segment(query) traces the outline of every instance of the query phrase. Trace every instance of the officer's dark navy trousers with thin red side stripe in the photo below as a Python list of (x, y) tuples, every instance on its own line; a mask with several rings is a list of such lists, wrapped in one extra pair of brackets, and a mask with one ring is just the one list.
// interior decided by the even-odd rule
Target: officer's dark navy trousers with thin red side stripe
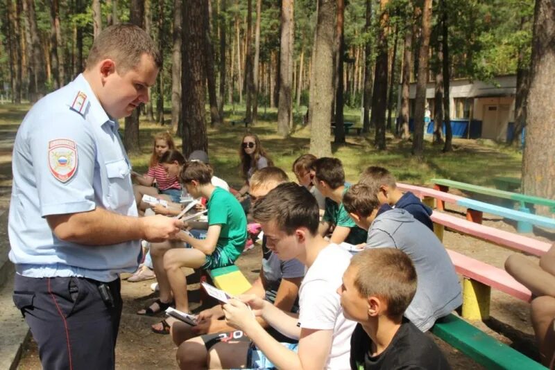
[(13, 300), (38, 344), (43, 369), (114, 369), (121, 283), (104, 283), (113, 304), (101, 296), (101, 284), (77, 277), (15, 275)]

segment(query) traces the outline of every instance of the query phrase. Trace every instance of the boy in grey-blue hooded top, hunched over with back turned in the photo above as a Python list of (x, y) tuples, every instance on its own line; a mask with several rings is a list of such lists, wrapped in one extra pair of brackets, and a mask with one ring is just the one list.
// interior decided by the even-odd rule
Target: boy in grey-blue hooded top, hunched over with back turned
[(377, 191), (365, 184), (353, 185), (343, 204), (350, 216), (368, 230), (366, 248), (393, 247), (411, 257), (418, 273), (418, 288), (405, 317), (421, 331), (432, 328), (436, 319), (461, 306), (459, 278), (436, 235), (404, 209), (380, 204)]

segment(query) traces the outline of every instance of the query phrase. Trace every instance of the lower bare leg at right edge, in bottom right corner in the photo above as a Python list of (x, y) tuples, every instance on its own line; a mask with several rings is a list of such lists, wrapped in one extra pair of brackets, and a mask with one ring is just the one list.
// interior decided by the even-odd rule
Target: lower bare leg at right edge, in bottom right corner
[(549, 367), (555, 354), (555, 298), (538, 297), (531, 303), (533, 331), (540, 350), (541, 362)]

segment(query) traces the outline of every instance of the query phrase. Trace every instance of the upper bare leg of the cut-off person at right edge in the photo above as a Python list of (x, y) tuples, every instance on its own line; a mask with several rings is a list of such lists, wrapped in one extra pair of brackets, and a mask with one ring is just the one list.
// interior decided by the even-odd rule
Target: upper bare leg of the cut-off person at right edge
[(505, 261), (505, 270), (516, 281), (531, 290), (536, 297), (555, 297), (555, 276), (543, 270), (538, 263), (522, 254), (511, 254)]

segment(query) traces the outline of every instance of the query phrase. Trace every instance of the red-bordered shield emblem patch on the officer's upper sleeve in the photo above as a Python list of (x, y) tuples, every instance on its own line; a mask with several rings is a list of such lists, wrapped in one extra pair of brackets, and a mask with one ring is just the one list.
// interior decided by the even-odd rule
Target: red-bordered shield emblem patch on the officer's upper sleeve
[(69, 139), (56, 139), (48, 143), (50, 173), (60, 182), (68, 182), (77, 170), (77, 146)]

